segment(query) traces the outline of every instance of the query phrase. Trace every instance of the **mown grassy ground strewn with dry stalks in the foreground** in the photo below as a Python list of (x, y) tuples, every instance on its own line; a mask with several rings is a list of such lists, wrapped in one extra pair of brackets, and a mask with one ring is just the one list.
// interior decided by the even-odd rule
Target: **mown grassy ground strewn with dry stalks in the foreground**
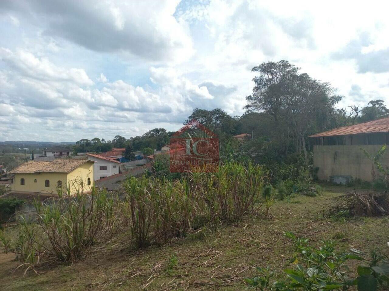
[[(385, 248), (389, 217), (336, 220), (323, 218), (331, 197), (348, 190), (324, 185), (319, 197), (296, 196), (276, 202), (273, 218), (252, 214), (241, 223), (216, 232), (199, 230), (161, 247), (131, 251), (123, 243), (100, 248), (73, 265), (52, 265), (44, 274), (23, 276), (14, 255), (0, 253), (0, 286), (14, 290), (245, 290), (244, 277), (254, 266), (272, 266), (281, 273), (293, 252), (283, 236), (291, 230), (319, 244), (335, 239), (338, 251), (350, 247)], [(353, 270), (354, 271), (354, 270)]]

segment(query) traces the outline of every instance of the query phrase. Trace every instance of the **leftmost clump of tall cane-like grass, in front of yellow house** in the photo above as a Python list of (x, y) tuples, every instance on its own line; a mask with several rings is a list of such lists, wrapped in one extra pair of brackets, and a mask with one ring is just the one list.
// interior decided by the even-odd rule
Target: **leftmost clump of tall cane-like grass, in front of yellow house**
[(102, 241), (114, 220), (114, 201), (106, 191), (80, 188), (59, 190), (59, 199), (35, 201), (34, 222), (22, 218), (18, 239), (2, 240), (7, 251), (18, 254), (21, 263), (35, 265), (41, 258), (51, 262), (74, 262), (88, 255)]

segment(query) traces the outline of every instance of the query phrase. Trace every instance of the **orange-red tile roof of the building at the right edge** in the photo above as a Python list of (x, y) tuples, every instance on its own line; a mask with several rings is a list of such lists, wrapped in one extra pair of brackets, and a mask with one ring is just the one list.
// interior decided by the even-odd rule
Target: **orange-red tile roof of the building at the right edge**
[(338, 127), (326, 132), (310, 135), (309, 137), (330, 137), (335, 135), (352, 135), (374, 132), (389, 132), (389, 117), (350, 126)]

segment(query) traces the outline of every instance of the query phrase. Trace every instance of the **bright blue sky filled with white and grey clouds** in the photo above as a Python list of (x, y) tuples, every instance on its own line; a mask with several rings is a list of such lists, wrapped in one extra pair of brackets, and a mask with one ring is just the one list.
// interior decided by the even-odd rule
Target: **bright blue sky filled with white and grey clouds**
[(195, 108), (242, 115), (252, 67), (282, 59), (331, 83), (338, 107), (387, 102), (388, 6), (2, 0), (0, 141), (178, 130)]

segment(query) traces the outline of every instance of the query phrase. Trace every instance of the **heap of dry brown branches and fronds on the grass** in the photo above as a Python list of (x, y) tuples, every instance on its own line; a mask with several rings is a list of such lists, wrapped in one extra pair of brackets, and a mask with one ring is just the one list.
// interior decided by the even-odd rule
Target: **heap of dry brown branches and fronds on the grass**
[(334, 198), (329, 215), (382, 216), (389, 215), (389, 194), (375, 192), (347, 192)]

